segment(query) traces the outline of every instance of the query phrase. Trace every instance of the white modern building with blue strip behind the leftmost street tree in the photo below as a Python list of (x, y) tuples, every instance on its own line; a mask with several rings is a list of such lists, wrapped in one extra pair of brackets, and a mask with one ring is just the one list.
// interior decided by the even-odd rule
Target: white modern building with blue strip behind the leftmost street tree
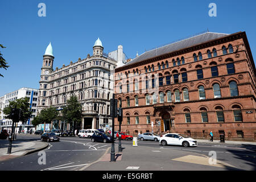
[[(28, 118), (28, 120), (25, 123), (18, 122), (19, 131), (22, 131), (22, 130), (27, 131), (31, 127), (34, 127), (31, 121), (36, 116), (37, 104), (38, 104), (38, 89), (23, 87), (18, 90), (15, 90), (14, 92), (7, 93), (3, 97), (0, 97), (1, 110), (9, 106), (10, 101), (15, 101), (23, 97), (29, 98), (30, 109), (32, 111), (32, 114), (31, 114), (31, 118)], [(1, 121), (1, 125), (0, 125), (1, 129), (6, 129), (6, 130), (11, 129), (13, 125), (13, 121), (11, 119), (5, 119), (5, 114), (3, 114), (3, 111), (1, 111), (0, 121)]]

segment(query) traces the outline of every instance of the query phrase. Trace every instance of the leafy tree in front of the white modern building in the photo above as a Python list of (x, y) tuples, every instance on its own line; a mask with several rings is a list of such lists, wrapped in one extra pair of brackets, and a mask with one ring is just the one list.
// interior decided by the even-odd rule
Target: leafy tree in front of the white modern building
[(30, 110), (30, 99), (28, 97), (19, 98), (15, 101), (11, 101), (9, 106), (5, 107), (3, 109), (3, 114), (5, 114), (6, 119), (11, 119), (11, 110), (21, 109), (21, 114), (19, 121), (26, 122), (28, 118), (30, 118), (30, 115), (32, 114), (32, 111)]

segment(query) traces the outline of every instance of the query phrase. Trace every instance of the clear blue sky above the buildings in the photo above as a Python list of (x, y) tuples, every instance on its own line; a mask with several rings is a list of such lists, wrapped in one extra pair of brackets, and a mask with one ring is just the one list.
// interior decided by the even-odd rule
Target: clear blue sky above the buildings
[[(210, 17), (209, 3), (217, 17)], [(38, 4), (46, 4), (46, 17)], [(43, 54), (49, 42), (53, 68), (92, 55), (99, 37), (108, 53), (123, 46), (134, 58), (148, 49), (208, 30), (233, 34), (246, 31), (256, 56), (256, 1), (0, 1), (0, 44), (10, 67), (0, 69), (0, 96), (22, 87), (39, 88)]]

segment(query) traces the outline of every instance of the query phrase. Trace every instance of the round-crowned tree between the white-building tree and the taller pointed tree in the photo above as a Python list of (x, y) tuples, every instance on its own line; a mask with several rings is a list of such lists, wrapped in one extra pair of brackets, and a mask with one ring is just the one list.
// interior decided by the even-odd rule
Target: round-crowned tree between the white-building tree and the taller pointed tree
[[(44, 123), (44, 131), (46, 130), (46, 124), (51, 123), (53, 119), (58, 118), (59, 111), (55, 107), (47, 107), (40, 111), (40, 113), (36, 117), (36, 121), (34, 123)], [(34, 118), (35, 119), (35, 118)], [(34, 125), (34, 124), (33, 124)]]

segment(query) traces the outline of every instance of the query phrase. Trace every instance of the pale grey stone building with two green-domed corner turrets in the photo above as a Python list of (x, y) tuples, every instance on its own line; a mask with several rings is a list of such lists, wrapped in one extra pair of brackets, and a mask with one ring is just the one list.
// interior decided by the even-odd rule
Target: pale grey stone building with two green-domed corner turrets
[[(123, 62), (115, 55), (124, 53), (122, 46), (118, 46), (118, 51), (112, 52), (112, 55), (107, 55), (103, 50), (101, 40), (97, 39), (92, 56), (88, 54), (85, 59), (79, 59), (76, 63), (71, 61), (69, 65), (63, 64), (62, 68), (53, 70), (54, 56), (50, 43), (43, 56), (38, 111), (49, 106), (61, 109), (75, 95), (82, 105), (80, 128), (109, 129), (112, 126), (110, 98), (113, 94), (114, 69), (118, 61)], [(56, 120), (53, 121), (53, 129), (73, 129), (73, 123)]]

